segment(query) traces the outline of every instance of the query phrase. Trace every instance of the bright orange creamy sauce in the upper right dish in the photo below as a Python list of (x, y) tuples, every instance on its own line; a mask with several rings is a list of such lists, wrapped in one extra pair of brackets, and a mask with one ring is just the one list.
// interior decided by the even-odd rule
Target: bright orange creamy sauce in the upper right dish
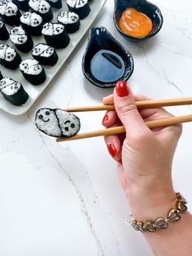
[(144, 37), (151, 32), (152, 22), (147, 15), (134, 8), (127, 8), (120, 16), (120, 29), (133, 37)]

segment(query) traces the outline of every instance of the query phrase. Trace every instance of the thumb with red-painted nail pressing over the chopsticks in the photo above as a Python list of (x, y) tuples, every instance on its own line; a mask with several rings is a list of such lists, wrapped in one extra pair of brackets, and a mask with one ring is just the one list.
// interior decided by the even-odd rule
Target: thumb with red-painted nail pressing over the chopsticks
[(142, 116), (137, 111), (132, 91), (124, 81), (116, 83), (114, 104), (116, 113), (129, 135), (138, 135), (138, 133), (141, 134), (141, 132), (149, 130)]

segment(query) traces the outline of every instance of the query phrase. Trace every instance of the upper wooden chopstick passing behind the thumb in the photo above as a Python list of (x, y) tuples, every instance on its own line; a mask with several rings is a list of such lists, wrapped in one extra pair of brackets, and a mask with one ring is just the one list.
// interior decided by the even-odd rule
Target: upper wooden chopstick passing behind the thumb
[[(192, 104), (192, 97), (189, 98), (175, 98), (175, 99), (150, 99), (136, 101), (137, 108), (161, 108), (168, 106), (189, 105)], [(100, 111), (100, 110), (114, 110), (114, 105), (96, 105), (96, 106), (82, 106), (76, 108), (64, 108), (68, 112), (86, 112), (86, 111)]]

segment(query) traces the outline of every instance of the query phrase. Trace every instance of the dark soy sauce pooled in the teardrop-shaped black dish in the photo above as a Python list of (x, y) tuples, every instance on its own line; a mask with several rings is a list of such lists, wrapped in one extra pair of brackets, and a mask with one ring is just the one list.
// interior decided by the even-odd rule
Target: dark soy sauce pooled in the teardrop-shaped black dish
[(100, 50), (90, 62), (92, 75), (100, 82), (116, 82), (124, 74), (124, 61), (113, 51)]

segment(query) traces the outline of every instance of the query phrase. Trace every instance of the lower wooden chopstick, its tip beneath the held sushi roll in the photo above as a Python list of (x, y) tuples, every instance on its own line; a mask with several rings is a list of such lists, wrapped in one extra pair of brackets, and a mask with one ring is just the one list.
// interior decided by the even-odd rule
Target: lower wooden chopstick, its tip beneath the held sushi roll
[[(192, 115), (185, 115), (179, 117), (168, 117), (164, 119), (158, 119), (155, 121), (146, 121), (146, 126), (150, 129), (164, 127), (164, 126), (173, 126), (180, 123), (192, 121)], [(119, 135), (125, 132), (124, 126), (112, 127), (104, 130), (94, 130), (90, 132), (86, 132), (80, 135), (75, 135), (70, 138), (58, 138), (56, 139), (57, 142), (64, 142), (69, 140), (76, 140), (76, 139), (87, 139), (92, 137), (98, 136), (107, 136), (107, 135)]]

